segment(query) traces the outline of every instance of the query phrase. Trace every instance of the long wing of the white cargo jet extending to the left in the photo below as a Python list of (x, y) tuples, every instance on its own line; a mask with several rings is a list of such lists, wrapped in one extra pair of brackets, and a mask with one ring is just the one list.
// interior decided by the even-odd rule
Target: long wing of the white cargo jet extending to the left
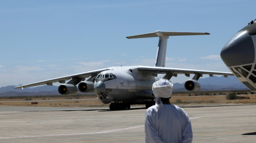
[(104, 68), (104, 69), (98, 69), (98, 70), (95, 70), (95, 71), (83, 72), (83, 73), (80, 73), (80, 74), (68, 75), (68, 76), (63, 76), (63, 77), (60, 77), (60, 78), (54, 78), (54, 79), (44, 80), (44, 81), (40, 81), (40, 82), (30, 83), (30, 84), (27, 84), (27, 85), (17, 86), (17, 87), (14, 87), (14, 88), (19, 89), (19, 88), (25, 88), (25, 87), (31, 87), (31, 86), (37, 86), (37, 85), (44, 85), (44, 84), (53, 85), (54, 82), (65, 83), (65, 80), (69, 80), (69, 79), (74, 78), (74, 77), (88, 78), (91, 75), (99, 74), (100, 72), (106, 71), (106, 70), (109, 70), (109, 69)]

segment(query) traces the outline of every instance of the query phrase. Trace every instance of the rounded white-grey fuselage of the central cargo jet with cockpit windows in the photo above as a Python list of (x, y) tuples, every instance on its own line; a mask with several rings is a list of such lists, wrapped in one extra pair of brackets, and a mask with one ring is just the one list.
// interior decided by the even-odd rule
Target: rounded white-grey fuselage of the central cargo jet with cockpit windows
[(104, 104), (112, 101), (144, 104), (145, 101), (152, 100), (154, 98), (152, 85), (158, 78), (139, 72), (137, 67), (111, 67), (110, 70), (101, 72), (94, 82), (95, 93), (99, 101)]

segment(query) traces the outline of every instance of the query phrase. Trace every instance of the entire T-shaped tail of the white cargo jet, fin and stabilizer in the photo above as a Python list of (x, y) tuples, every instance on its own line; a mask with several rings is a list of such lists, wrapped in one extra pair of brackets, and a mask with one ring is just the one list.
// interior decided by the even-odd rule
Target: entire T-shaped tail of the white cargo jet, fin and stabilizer
[(166, 32), (166, 31), (156, 31), (152, 33), (127, 36), (127, 39), (133, 38), (150, 38), (150, 37), (159, 37), (157, 56), (155, 58), (155, 67), (164, 67), (165, 57), (166, 57), (166, 47), (167, 39), (169, 36), (183, 36), (183, 35), (210, 35), (210, 33), (202, 32)]

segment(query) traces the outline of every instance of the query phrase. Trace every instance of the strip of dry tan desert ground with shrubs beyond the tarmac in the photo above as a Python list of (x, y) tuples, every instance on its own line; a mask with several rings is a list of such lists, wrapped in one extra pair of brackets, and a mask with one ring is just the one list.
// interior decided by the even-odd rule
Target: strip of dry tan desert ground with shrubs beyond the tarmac
[[(232, 92), (235, 92), (238, 98), (236, 100), (227, 100), (226, 95)], [(37, 102), (37, 104), (32, 104), (32, 102)], [(175, 105), (256, 104), (256, 95), (251, 94), (250, 91), (179, 92), (172, 94), (170, 102)], [(1, 97), (0, 105), (37, 107), (109, 107), (109, 104), (100, 102), (96, 98), (96, 95)]]

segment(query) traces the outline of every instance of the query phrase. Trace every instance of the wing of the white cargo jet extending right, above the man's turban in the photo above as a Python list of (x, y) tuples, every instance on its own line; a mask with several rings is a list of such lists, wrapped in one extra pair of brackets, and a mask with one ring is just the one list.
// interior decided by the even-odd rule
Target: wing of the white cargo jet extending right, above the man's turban
[(209, 75), (228, 75), (233, 76), (231, 72), (217, 72), (217, 71), (204, 71), (195, 69), (182, 69), (182, 68), (166, 68), (166, 67), (150, 67), (150, 66), (139, 66), (138, 70), (140, 72), (154, 72), (158, 74), (165, 74), (170, 72), (172, 74), (209, 74)]

